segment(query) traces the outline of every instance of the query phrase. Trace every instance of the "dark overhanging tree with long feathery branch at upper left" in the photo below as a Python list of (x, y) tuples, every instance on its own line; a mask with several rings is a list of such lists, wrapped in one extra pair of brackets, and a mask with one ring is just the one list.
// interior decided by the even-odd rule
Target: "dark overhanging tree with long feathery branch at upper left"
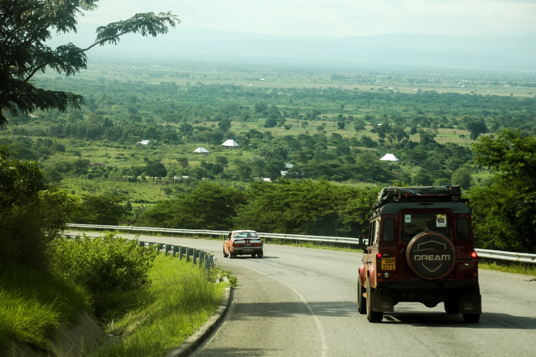
[(87, 68), (86, 51), (99, 45), (117, 44), (128, 33), (142, 36), (165, 34), (180, 24), (170, 12), (138, 13), (128, 20), (96, 29), (93, 44), (86, 48), (73, 43), (50, 48), (51, 33), (77, 32), (78, 17), (96, 9), (99, 0), (0, 0), (0, 127), (11, 116), (29, 115), (36, 109), (79, 109), (84, 98), (71, 92), (35, 87), (33, 75), (47, 70), (66, 76)]

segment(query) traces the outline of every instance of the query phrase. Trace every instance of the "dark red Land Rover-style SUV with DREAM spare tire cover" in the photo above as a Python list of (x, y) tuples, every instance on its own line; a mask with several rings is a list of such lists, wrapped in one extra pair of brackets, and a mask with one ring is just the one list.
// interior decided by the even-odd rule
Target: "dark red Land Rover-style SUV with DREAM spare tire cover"
[(459, 186), (382, 189), (363, 250), (358, 310), (370, 322), (381, 322), (404, 301), (442, 302), (446, 313), (479, 321), (471, 209)]

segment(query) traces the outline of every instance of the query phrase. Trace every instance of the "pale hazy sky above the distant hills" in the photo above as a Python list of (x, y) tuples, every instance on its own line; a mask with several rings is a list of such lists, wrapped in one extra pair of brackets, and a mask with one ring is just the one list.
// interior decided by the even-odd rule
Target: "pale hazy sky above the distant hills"
[(100, 0), (79, 23), (171, 11), (185, 28), (262, 34), (536, 33), (536, 0)]

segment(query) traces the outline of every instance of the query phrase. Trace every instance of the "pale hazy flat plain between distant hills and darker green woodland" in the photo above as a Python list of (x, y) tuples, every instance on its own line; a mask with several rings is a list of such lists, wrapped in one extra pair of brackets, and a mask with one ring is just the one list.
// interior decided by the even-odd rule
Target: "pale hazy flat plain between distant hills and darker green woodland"
[(520, 97), (532, 97), (536, 94), (534, 87), (523, 86), (524, 80), (516, 77), (497, 75), (493, 78), (490, 75), (467, 74), (461, 71), (459, 74), (384, 73), (358, 67), (355, 72), (348, 72), (167, 62), (163, 64), (123, 60), (109, 63), (96, 60), (91, 61), (88, 69), (77, 74), (75, 78), (143, 81), (152, 84), (175, 82), (179, 86), (218, 83), (262, 88), (338, 87), (415, 94), (421, 91)]

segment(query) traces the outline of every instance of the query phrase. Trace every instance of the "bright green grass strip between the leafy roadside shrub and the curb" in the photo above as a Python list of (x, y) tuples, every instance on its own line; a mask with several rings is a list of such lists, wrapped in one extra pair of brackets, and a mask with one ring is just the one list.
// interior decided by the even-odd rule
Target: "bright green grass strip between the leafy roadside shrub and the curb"
[[(209, 274), (209, 276), (207, 276)], [(144, 306), (110, 322), (119, 336), (93, 356), (162, 356), (192, 335), (218, 308), (227, 283), (214, 284), (218, 269), (207, 272), (171, 256), (157, 256), (152, 284), (140, 291)]]

